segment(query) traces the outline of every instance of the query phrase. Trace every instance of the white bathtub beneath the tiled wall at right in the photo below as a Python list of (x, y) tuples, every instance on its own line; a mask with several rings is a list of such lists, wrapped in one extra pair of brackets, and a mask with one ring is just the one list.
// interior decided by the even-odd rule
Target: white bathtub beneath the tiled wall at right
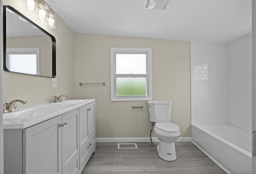
[(191, 125), (192, 142), (230, 174), (251, 174), (252, 134), (229, 124)]

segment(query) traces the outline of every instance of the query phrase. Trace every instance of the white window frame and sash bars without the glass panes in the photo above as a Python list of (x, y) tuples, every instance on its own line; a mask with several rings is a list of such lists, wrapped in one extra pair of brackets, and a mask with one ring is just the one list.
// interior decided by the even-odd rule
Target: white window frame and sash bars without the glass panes
[[(146, 54), (146, 74), (116, 74), (116, 54)], [(152, 100), (152, 48), (110, 48), (111, 101)], [(117, 77), (146, 77), (146, 96), (116, 96)]]

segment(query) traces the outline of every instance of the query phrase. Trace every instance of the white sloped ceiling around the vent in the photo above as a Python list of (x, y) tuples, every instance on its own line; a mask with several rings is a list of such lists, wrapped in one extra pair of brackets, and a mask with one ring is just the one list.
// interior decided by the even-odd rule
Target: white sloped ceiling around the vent
[(251, 32), (252, 0), (170, 0), (165, 10), (146, 0), (45, 1), (76, 33), (229, 43)]

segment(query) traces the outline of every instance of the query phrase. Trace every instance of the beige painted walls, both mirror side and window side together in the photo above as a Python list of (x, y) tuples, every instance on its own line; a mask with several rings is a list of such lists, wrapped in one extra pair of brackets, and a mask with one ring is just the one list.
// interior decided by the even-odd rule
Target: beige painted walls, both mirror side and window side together
[[(148, 137), (146, 101), (110, 101), (110, 47), (148, 47), (152, 48), (153, 100), (172, 100), (171, 121), (180, 126), (181, 137), (190, 136), (189, 42), (74, 34), (58, 16), (52, 30), (24, 10), (23, 0), (4, 0), (7, 4), (55, 36), (58, 88), (51, 87), (51, 78), (4, 72), (4, 102), (21, 98), (28, 100), (23, 106), (31, 106), (52, 102), (52, 95), (60, 94), (95, 98), (96, 137)], [(106, 86), (79, 86), (79, 82), (106, 82)], [(132, 109), (132, 105), (144, 108)]]

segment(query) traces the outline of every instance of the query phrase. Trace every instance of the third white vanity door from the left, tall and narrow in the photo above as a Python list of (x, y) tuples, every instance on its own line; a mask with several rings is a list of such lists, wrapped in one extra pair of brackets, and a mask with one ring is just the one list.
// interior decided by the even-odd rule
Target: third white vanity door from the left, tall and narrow
[(87, 154), (87, 146), (89, 141), (89, 133), (88, 133), (88, 107), (89, 104), (82, 106), (79, 108), (79, 145), (80, 145), (80, 170), (83, 170), (87, 159), (85, 158)]

